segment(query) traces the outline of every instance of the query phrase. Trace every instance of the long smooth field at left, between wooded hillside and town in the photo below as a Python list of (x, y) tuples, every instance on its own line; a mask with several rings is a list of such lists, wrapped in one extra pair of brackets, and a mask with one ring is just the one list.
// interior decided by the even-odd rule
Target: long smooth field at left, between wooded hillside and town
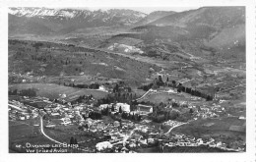
[(10, 84), (11, 89), (27, 89), (36, 88), (38, 89), (37, 95), (44, 96), (50, 99), (58, 98), (59, 94), (66, 94), (68, 98), (76, 98), (80, 95), (93, 95), (96, 99), (104, 97), (107, 92), (99, 91), (96, 89), (82, 89), (70, 86), (58, 85), (54, 83), (19, 83)]

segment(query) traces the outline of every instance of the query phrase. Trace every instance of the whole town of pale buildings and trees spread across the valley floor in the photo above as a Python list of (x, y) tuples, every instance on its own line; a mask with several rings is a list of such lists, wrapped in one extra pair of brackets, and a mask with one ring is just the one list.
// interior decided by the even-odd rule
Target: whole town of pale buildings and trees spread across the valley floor
[[(100, 88), (102, 89), (102, 86)], [(116, 84), (112, 91), (120, 91), (120, 89), (123, 88)], [(76, 139), (74, 143), (79, 143), (80, 147), (77, 149), (82, 152), (140, 152), (147, 148), (156, 149), (156, 147), (158, 151), (164, 152), (169, 147), (177, 146), (207, 146), (224, 151), (244, 151), (244, 142), (226, 144), (224, 141), (216, 140), (213, 137), (196, 138), (195, 136), (172, 132), (174, 128), (188, 125), (198, 119), (207, 120), (229, 117), (243, 121), (245, 124), (244, 116), (231, 117), (225, 111), (223, 107), (224, 100), (216, 99), (212, 104), (198, 105), (198, 102), (178, 102), (172, 99), (167, 105), (161, 104), (161, 108), (158, 106), (158, 109), (155, 105), (145, 104), (144, 102), (144, 104), (137, 103), (150, 95), (160, 93), (180, 95), (178, 89), (173, 87), (167, 88), (167, 90), (151, 88), (141, 97), (132, 100), (132, 107), (130, 104), (117, 101), (111, 102), (109, 99), (96, 101), (93, 95), (79, 97), (70, 102), (65, 101), (65, 94), (52, 101), (46, 97), (20, 96), (18, 97), (19, 99), (9, 100), (9, 119), (24, 123), (30, 121), (29, 124), (33, 123), (33, 127), (40, 127), (42, 133), (44, 130), (43, 134), (47, 134), (47, 130), (54, 132), (55, 130), (65, 130), (65, 127), (72, 127), (80, 132), (94, 134), (96, 138), (102, 136), (99, 137), (99, 140), (96, 140), (98, 142), (93, 141), (94, 139), (89, 139), (95, 143), (91, 147), (86, 146), (87, 139), (82, 141)], [(190, 99), (191, 101), (201, 100), (200, 97), (192, 95)], [(100, 102), (105, 103), (100, 104)], [(168, 116), (163, 116), (163, 119), (161, 119), (161, 115), (158, 114), (161, 111), (168, 114)], [(40, 123), (39, 120), (43, 122)], [(215, 123), (205, 125), (210, 127)], [(245, 132), (244, 125), (230, 126), (229, 129)], [(48, 135), (45, 136), (47, 137)], [(59, 138), (58, 135), (56, 137)], [(55, 140), (51, 137), (49, 139)], [(73, 143), (71, 140), (57, 142)]]

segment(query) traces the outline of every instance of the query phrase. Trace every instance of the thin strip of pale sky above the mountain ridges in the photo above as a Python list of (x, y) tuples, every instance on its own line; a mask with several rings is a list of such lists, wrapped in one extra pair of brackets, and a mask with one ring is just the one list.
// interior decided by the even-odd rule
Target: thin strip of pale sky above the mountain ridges
[[(70, 7), (67, 7), (70, 8)], [(140, 11), (145, 14), (150, 14), (154, 11), (175, 11), (181, 12), (186, 10), (198, 9), (199, 7), (89, 7), (89, 8), (73, 8), (73, 9), (89, 9), (89, 10), (109, 10), (109, 9), (130, 9)]]

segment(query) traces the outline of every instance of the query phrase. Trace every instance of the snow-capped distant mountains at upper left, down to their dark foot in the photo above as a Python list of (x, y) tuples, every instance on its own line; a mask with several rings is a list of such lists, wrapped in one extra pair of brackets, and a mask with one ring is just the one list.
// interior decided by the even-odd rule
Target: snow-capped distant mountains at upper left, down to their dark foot
[[(89, 11), (47, 8), (10, 8), (9, 33), (30, 32), (28, 28), (37, 27), (32, 33), (68, 33), (85, 27), (130, 26), (147, 15), (133, 10), (111, 9)], [(29, 24), (26, 24), (29, 22)], [(18, 29), (19, 28), (19, 29)]]

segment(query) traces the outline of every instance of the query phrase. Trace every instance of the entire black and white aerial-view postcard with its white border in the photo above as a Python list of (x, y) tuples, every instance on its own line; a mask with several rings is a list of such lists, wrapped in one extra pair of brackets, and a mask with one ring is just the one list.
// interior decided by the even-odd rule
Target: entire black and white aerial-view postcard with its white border
[(248, 4), (99, 2), (6, 6), (9, 155), (255, 149)]

